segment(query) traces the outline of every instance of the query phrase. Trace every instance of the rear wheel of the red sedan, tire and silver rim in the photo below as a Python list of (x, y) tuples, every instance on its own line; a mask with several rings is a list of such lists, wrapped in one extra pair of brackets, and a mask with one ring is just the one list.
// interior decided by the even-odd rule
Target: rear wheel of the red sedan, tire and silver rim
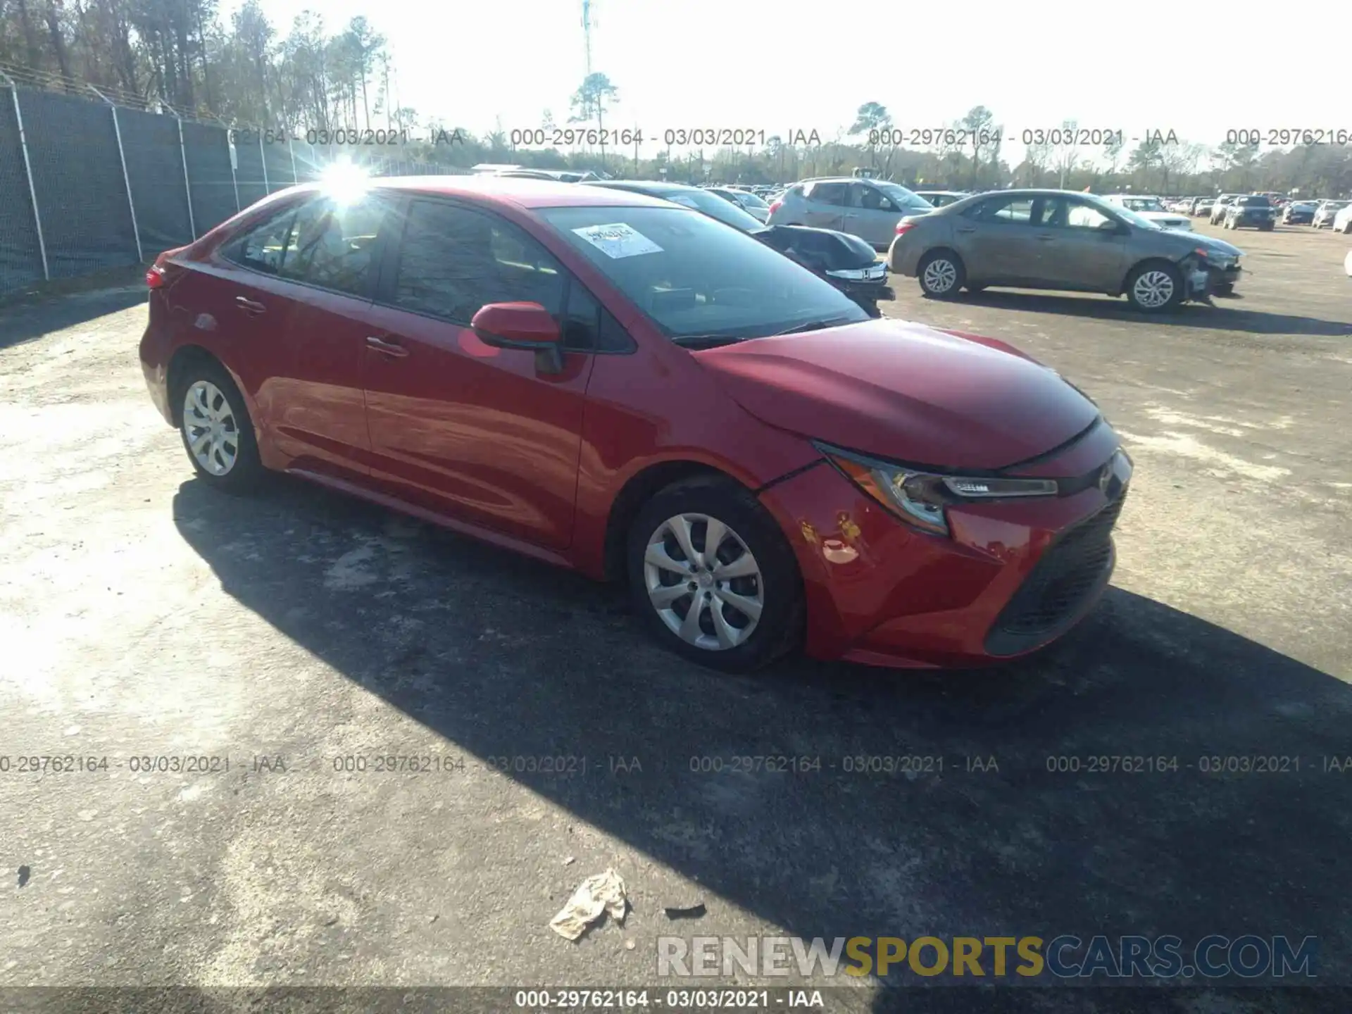
[(215, 360), (185, 366), (174, 395), (178, 434), (197, 476), (224, 492), (247, 492), (265, 470), (253, 422), (230, 373)]

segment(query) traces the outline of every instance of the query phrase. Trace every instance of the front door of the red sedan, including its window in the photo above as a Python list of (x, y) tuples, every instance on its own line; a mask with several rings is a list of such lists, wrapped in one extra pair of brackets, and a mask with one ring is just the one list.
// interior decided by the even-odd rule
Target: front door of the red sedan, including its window
[[(548, 549), (571, 544), (592, 356), (569, 318), (599, 304), (525, 230), (415, 197), (387, 251), (364, 352), (373, 479), (438, 514)], [(591, 303), (588, 303), (591, 300)], [(488, 303), (530, 301), (565, 334), (564, 369), (484, 345)]]

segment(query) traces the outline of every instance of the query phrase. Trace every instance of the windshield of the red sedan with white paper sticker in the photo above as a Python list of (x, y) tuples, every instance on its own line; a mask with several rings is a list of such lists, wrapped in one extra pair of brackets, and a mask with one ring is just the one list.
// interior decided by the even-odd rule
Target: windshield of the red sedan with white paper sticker
[(704, 215), (623, 206), (539, 215), (673, 341), (758, 338), (821, 320), (868, 319), (806, 268)]

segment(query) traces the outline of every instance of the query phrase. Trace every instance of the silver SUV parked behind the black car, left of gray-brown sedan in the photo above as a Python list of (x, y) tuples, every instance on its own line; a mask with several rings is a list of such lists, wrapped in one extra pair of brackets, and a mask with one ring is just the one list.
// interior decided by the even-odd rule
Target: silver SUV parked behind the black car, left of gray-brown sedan
[(769, 224), (836, 228), (886, 250), (902, 218), (933, 210), (899, 184), (840, 176), (795, 183), (771, 206)]

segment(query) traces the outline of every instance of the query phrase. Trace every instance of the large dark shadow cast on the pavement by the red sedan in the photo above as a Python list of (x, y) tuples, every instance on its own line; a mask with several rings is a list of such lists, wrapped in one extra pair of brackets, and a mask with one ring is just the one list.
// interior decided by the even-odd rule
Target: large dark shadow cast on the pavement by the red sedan
[[(1320, 980), (1352, 982), (1352, 772), (1325, 761), (1352, 753), (1352, 688), (1167, 604), (1111, 588), (995, 669), (727, 677), (649, 644), (612, 589), (296, 480), (189, 480), (173, 516), (228, 595), (456, 749), (638, 758), (514, 777), (710, 906), (827, 940), (1314, 936)], [(353, 550), (366, 579), (326, 580)], [(1000, 1009), (1136, 1009), (1073, 992)]]

